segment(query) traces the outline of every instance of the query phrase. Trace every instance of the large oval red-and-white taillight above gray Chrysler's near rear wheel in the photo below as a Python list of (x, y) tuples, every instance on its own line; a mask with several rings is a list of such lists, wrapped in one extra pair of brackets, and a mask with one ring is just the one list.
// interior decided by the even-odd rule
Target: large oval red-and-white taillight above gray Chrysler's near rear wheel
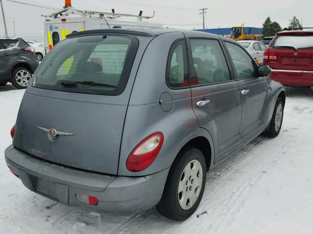
[(141, 172), (148, 168), (161, 150), (163, 134), (154, 133), (141, 141), (128, 156), (126, 168), (131, 172)]

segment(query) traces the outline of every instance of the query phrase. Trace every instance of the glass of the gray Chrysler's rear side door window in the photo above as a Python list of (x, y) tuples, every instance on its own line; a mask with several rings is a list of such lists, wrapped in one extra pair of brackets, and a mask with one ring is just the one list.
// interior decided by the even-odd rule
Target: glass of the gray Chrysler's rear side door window
[(230, 74), (218, 40), (190, 39), (198, 85), (229, 81)]

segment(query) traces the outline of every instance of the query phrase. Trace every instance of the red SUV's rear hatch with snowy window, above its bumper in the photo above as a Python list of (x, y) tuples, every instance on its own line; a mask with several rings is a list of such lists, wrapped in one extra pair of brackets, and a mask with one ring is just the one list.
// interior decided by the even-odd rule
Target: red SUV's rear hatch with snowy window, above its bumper
[(268, 48), (268, 55), (272, 69), (313, 71), (313, 32), (278, 34)]

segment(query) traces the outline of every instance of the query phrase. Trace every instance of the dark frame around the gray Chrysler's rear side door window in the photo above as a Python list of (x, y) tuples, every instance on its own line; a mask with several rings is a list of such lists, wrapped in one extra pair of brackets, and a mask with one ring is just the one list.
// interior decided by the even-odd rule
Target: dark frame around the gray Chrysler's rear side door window
[[(205, 39), (205, 40), (217, 40), (219, 42), (219, 45), (222, 49), (226, 64), (227, 64), (227, 68), (229, 71), (229, 75), (230, 75), (230, 80), (227, 81), (221, 81), (221, 82), (214, 82), (214, 83), (208, 83), (208, 84), (197, 84), (197, 85), (190, 85), (190, 88), (194, 88), (194, 87), (202, 87), (202, 86), (209, 86), (209, 85), (215, 85), (215, 84), (223, 84), (223, 83), (228, 83), (228, 82), (232, 82), (232, 81), (236, 81), (235, 77), (234, 77), (234, 71), (233, 68), (231, 66), (230, 60), (228, 58), (228, 55), (226, 54), (225, 48), (224, 48), (224, 44), (221, 41), (221, 39), (215, 39), (215, 38), (204, 38), (204, 37), (188, 37), (186, 38), (187, 41), (187, 51), (188, 54), (192, 55), (192, 50), (191, 50), (191, 43), (190, 43), (190, 39)], [(189, 80), (191, 80), (192, 77), (196, 76), (196, 71), (195, 71), (195, 67), (194, 67), (194, 62), (193, 62), (193, 57), (189, 56), (188, 59), (188, 66), (189, 66)]]

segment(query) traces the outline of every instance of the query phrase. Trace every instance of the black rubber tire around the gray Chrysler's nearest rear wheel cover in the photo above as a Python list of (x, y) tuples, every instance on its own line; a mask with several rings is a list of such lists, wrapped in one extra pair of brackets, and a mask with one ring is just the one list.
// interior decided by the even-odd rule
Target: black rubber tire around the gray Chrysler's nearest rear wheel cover
[[(189, 208), (188, 210), (184, 210), (181, 208), (179, 204), (179, 193), (178, 193), (179, 182), (184, 168), (192, 160), (198, 160), (202, 168), (201, 190), (198, 195), (198, 198), (196, 199), (196, 202), (194, 202), (191, 208)], [(189, 185), (191, 185), (191, 180), (193, 181), (193, 179), (189, 178), (189, 180), (188, 181), (187, 180), (188, 178), (186, 178), (186, 183), (189, 181)], [(162, 194), (162, 198), (160, 202), (156, 205), (157, 211), (161, 215), (177, 221), (183, 221), (189, 218), (197, 210), (200, 204), (205, 187), (205, 181), (206, 181), (206, 164), (202, 152), (199, 149), (193, 147), (183, 148), (179, 152), (169, 171), (164, 191)]]

